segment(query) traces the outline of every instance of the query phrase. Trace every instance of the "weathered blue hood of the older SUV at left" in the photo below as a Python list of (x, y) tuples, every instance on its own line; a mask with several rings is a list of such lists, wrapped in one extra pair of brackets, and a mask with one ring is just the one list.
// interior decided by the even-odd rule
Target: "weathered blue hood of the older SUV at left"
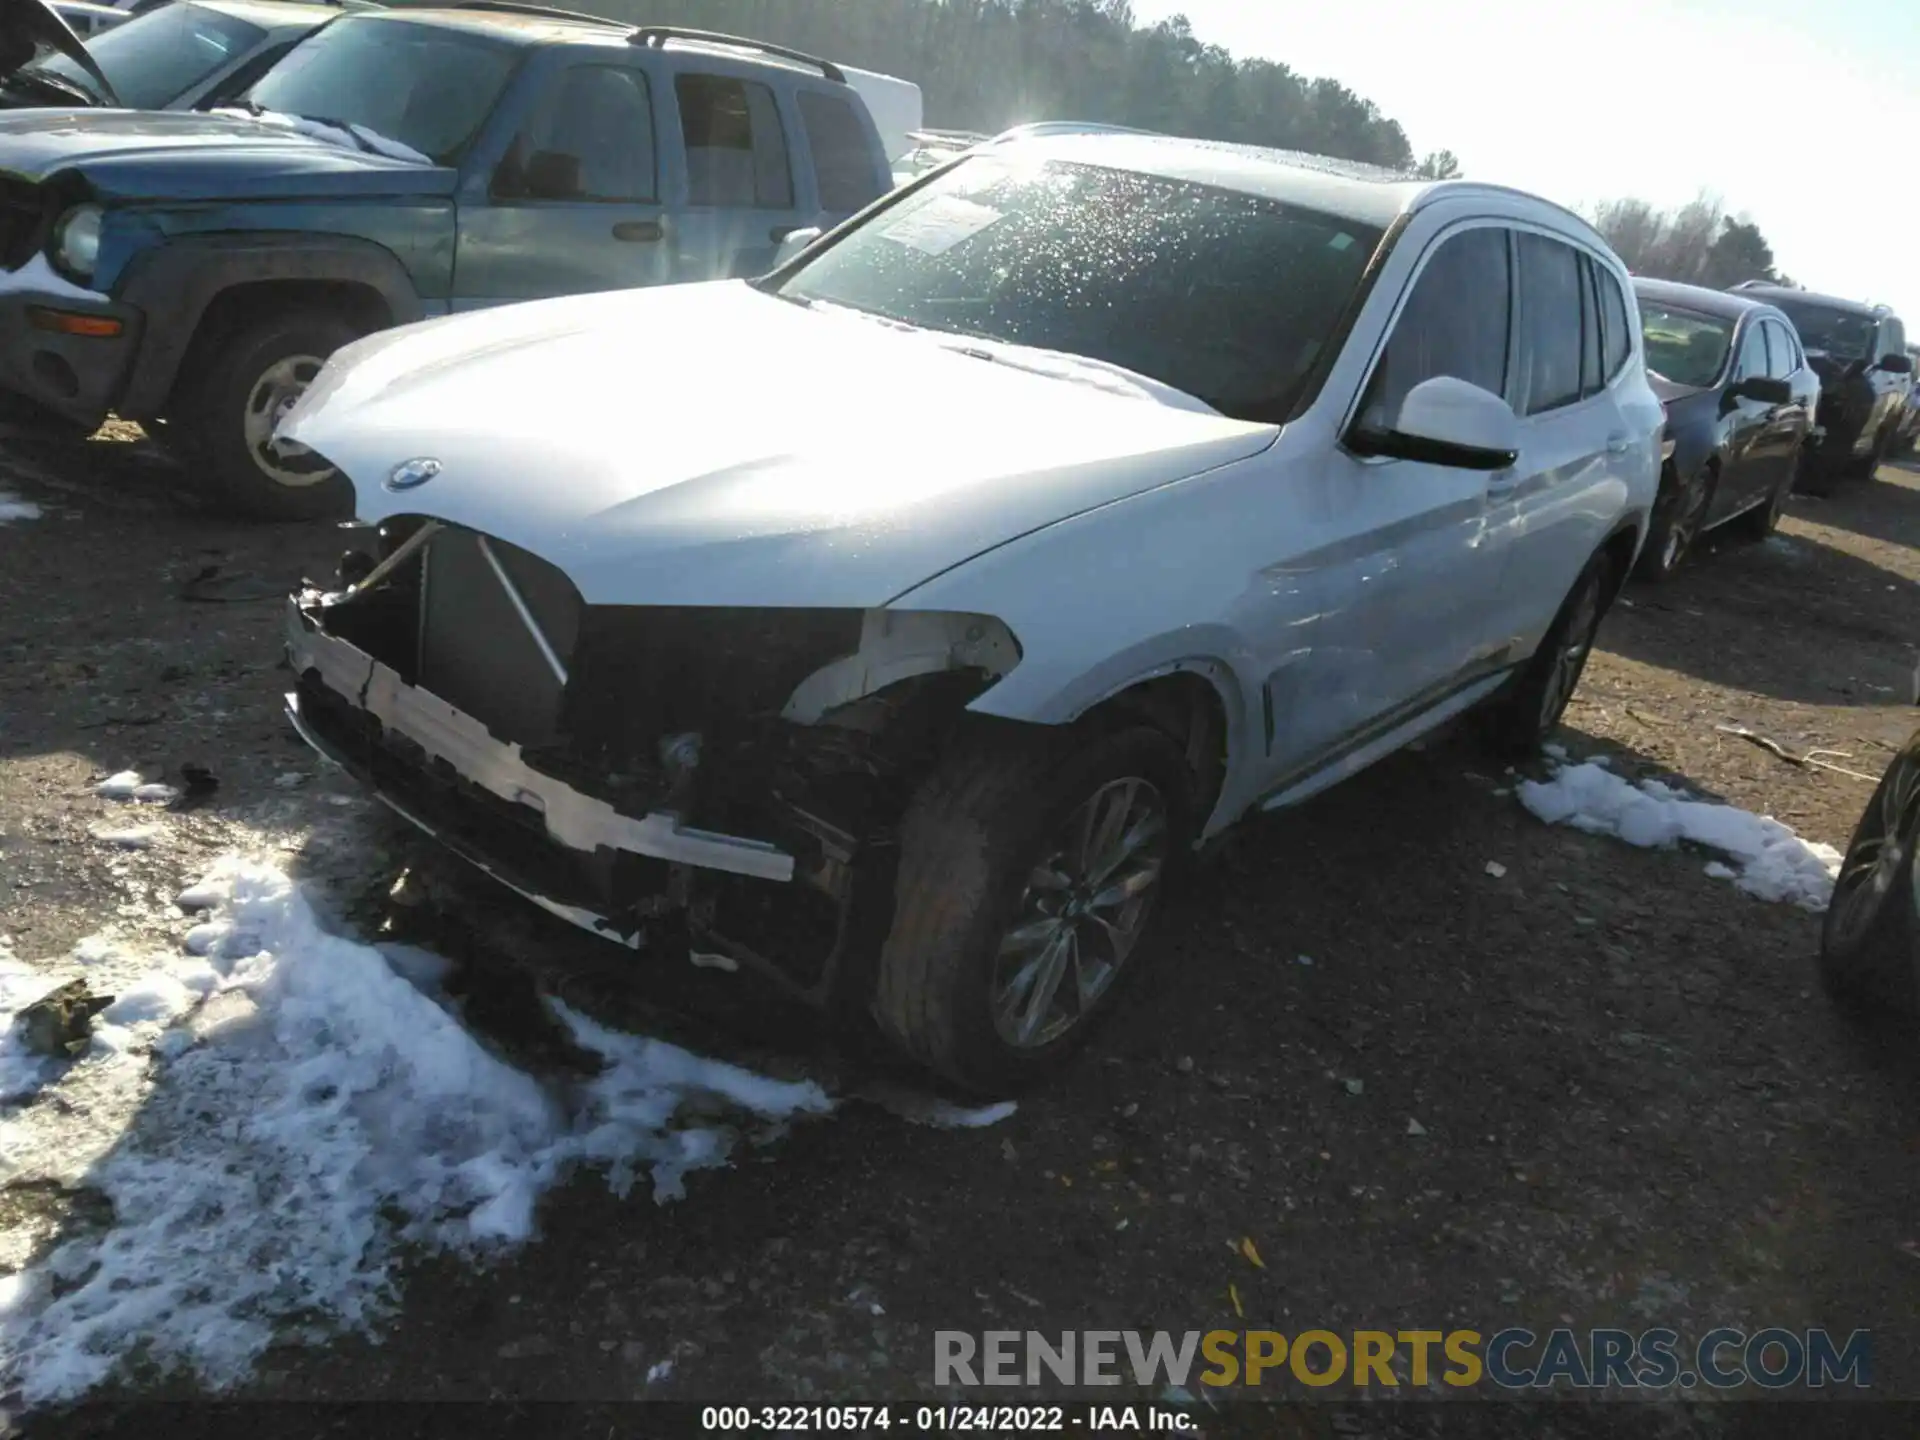
[(127, 200), (453, 194), (440, 165), (371, 156), (286, 125), (180, 109), (0, 111), (0, 173), (81, 171)]

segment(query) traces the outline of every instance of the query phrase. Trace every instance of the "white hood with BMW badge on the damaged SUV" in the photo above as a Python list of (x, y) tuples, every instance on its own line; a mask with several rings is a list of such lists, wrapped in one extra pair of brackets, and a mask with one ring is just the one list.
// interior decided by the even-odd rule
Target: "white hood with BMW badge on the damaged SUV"
[[(353, 480), (361, 518), (499, 536), (589, 603), (874, 607), (1279, 432), (722, 280), (371, 336), (280, 434)], [(440, 472), (388, 490), (415, 459)]]

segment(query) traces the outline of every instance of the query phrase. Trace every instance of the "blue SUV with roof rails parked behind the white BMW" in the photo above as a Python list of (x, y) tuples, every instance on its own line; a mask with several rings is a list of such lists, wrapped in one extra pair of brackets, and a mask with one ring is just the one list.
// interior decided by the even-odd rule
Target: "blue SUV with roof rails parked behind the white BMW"
[[(40, 0), (0, 19), (0, 69), (79, 50)], [(111, 411), (227, 509), (338, 515), (348, 486), (275, 426), (349, 340), (758, 275), (889, 186), (826, 60), (509, 0), (342, 13), (211, 113), (0, 113), (0, 409)]]

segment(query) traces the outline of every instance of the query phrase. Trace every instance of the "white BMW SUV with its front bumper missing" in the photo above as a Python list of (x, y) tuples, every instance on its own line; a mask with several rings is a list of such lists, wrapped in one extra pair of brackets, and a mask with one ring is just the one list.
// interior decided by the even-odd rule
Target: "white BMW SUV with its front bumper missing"
[(1194, 847), (1559, 722), (1659, 480), (1632, 296), (1513, 190), (1043, 134), (764, 280), (376, 334), (280, 426), (378, 526), (290, 712), (538, 904), (1016, 1089)]

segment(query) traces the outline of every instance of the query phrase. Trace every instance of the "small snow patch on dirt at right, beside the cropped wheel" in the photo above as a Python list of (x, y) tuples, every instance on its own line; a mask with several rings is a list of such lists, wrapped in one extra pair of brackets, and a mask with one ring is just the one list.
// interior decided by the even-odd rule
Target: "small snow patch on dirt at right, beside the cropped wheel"
[[(1553, 749), (1549, 747), (1549, 755)], [(1561, 751), (1557, 760), (1565, 756)], [(1839, 874), (1839, 851), (1801, 839), (1772, 816), (1697, 801), (1657, 780), (1636, 785), (1599, 760), (1555, 762), (1551, 780), (1524, 780), (1519, 795), (1521, 804), (1549, 826), (1613, 835), (1642, 849), (1670, 849), (1692, 841), (1718, 851), (1732, 864), (1709, 862), (1707, 874), (1732, 879), (1763, 900), (1791, 900), (1807, 910), (1826, 910)]]

